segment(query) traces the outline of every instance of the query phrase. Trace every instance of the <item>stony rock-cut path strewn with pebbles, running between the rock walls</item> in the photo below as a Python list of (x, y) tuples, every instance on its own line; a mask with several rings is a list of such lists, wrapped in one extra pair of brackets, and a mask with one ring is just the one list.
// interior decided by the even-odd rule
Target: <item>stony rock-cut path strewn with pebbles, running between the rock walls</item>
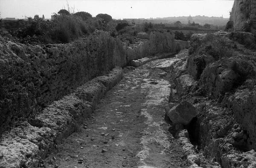
[(102, 98), (92, 118), (56, 147), (45, 166), (186, 167), (186, 156), (164, 121), (170, 84), (163, 69), (173, 60), (125, 70), (122, 81)]

